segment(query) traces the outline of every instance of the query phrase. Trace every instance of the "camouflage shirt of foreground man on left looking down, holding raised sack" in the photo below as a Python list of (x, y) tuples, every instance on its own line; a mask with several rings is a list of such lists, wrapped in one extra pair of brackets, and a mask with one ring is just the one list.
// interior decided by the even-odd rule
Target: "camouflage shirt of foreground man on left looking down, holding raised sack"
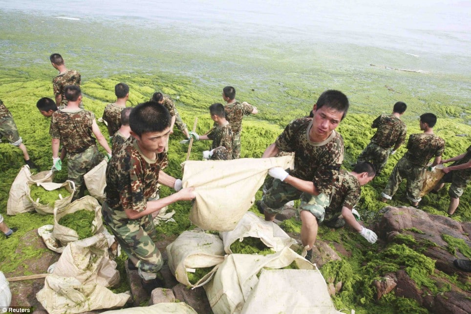
[(144, 156), (132, 136), (113, 153), (107, 166), (105, 192), (109, 214), (115, 221), (129, 220), (125, 210), (146, 209), (158, 188), (159, 171), (167, 163), (166, 152), (157, 154), (155, 160)]

